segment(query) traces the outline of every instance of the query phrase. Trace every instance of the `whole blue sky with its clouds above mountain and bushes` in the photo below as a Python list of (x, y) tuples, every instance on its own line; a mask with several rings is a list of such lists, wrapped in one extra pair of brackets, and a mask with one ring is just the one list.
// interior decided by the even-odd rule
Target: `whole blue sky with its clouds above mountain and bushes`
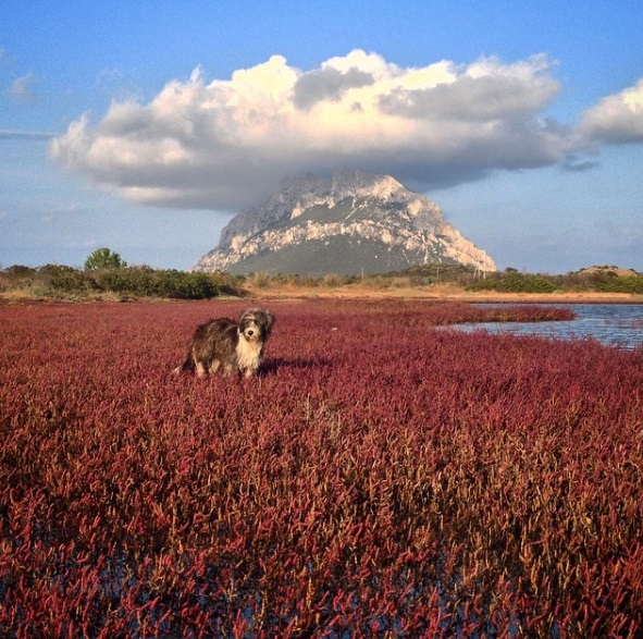
[(500, 269), (643, 271), (639, 1), (4, 0), (0, 267), (188, 269), (297, 173), (388, 173)]

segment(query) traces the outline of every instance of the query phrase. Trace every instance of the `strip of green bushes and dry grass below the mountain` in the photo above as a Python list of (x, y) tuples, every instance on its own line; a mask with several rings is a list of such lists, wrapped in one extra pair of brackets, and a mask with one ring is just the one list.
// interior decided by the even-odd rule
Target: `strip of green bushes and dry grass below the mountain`
[(565, 275), (522, 273), (516, 269), (482, 273), (463, 265), (432, 263), (404, 271), (371, 275), (319, 277), (250, 273), (233, 275), (227, 272), (189, 272), (176, 269), (152, 269), (127, 266), (119, 254), (108, 248), (92, 253), (85, 268), (46, 265), (32, 268), (14, 265), (0, 270), (0, 295), (17, 293), (35, 298), (171, 298), (211, 299), (221, 295), (244, 296), (286, 288), (400, 290), (430, 292), (432, 287), (449, 284), (461, 292), (497, 293), (609, 293), (643, 295), (643, 274), (617, 267), (592, 267)]

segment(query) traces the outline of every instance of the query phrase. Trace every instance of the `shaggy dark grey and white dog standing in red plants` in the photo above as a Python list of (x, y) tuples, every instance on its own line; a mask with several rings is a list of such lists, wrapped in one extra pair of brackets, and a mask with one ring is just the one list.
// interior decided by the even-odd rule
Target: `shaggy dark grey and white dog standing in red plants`
[(185, 361), (174, 372), (196, 370), (199, 378), (221, 370), (250, 378), (263, 359), (275, 317), (263, 308), (245, 310), (238, 322), (222, 317), (197, 327)]

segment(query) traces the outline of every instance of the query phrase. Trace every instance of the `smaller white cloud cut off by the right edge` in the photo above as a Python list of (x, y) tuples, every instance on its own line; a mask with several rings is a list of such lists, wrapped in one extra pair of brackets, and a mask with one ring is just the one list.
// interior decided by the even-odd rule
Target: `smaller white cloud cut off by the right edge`
[(586, 110), (581, 130), (589, 137), (608, 144), (643, 142), (643, 78)]

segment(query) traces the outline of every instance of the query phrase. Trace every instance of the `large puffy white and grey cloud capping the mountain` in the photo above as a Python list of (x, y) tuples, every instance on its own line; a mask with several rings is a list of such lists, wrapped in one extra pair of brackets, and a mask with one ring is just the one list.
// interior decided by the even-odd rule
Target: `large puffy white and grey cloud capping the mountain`
[(436, 189), (584, 151), (578, 130), (542, 116), (560, 88), (553, 66), (534, 56), (403, 67), (355, 50), (310, 71), (273, 56), (209, 83), (197, 67), (148, 103), (82, 115), (49, 151), (153, 206), (235, 210), (284, 177), (346, 169)]

